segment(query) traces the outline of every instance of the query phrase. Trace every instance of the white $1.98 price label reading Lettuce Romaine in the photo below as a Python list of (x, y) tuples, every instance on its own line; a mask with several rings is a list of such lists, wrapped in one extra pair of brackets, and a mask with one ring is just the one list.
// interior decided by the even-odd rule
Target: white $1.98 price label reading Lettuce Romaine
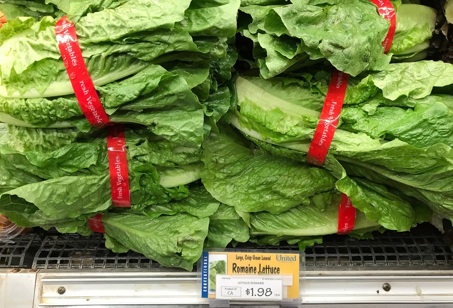
[(281, 276), (216, 275), (216, 298), (220, 299), (282, 299)]

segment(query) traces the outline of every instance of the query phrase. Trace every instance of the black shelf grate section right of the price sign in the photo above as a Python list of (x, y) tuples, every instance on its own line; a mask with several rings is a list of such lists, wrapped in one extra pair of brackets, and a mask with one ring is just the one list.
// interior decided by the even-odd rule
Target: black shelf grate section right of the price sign
[[(326, 237), (307, 247), (307, 266), (442, 266), (453, 264), (453, 253), (434, 230), (386, 232), (374, 240)], [(430, 228), (429, 228), (430, 229)]]

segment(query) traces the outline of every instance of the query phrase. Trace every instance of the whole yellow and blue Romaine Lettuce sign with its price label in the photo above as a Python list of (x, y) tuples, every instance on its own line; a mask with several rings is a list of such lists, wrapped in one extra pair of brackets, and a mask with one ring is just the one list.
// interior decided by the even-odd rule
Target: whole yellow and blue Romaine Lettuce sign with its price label
[(198, 267), (201, 296), (255, 301), (300, 298), (303, 256), (295, 251), (203, 251)]

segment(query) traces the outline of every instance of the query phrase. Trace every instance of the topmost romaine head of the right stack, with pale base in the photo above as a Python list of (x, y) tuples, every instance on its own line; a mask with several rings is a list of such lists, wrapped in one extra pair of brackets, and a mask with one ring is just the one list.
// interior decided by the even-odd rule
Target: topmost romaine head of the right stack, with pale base
[(324, 59), (356, 76), (385, 69), (393, 54), (398, 59), (427, 55), (423, 52), (429, 47), (436, 11), (413, 4), (394, 7), (398, 22), (388, 55), (382, 42), (390, 23), (369, 1), (243, 1), (240, 10), (249, 19), (244, 17), (239, 28), (252, 40), (264, 78)]

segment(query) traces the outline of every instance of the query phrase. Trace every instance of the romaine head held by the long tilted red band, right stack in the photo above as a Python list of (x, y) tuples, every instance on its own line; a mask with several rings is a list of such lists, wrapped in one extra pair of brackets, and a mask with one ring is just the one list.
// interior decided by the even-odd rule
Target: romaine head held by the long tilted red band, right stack
[[(411, 65), (413, 69), (408, 68)], [(393, 186), (403, 194), (425, 202), (445, 217), (453, 217), (450, 196), (453, 186), (448, 180), (453, 171), (453, 96), (430, 95), (431, 89), (447, 92), (452, 81), (448, 73), (439, 81), (437, 72), (429, 73), (434, 67), (448, 72), (452, 66), (432, 61), (399, 63), (391, 64), (386, 74), (351, 77), (326, 158), (325, 168), (338, 179), (336, 188), (351, 199), (356, 198), (354, 204), (369, 219), (386, 228), (410, 228), (414, 214), (407, 211), (407, 201), (395, 198), (393, 193), (388, 196), (376, 185), (374, 188), (383, 197), (379, 203), (390, 202), (386, 207), (394, 207), (394, 214), (374, 217), (372, 208), (377, 203), (363, 196), (374, 198), (376, 191), (369, 190), (372, 185), (349, 177), (344, 168), (346, 163), (357, 165), (363, 173), (379, 174), (379, 183), (388, 184), (385, 178), (398, 183)], [(429, 71), (423, 72), (423, 68)], [(329, 84), (326, 76), (328, 72), (318, 71), (269, 80), (239, 77), (236, 82), (239, 108), (231, 114), (231, 123), (260, 147), (305, 162)], [(395, 81), (400, 83), (399, 87), (393, 85)], [(372, 204), (371, 208), (367, 204)], [(398, 213), (398, 209), (405, 209), (406, 214)], [(382, 209), (379, 212), (383, 213)], [(404, 217), (404, 223), (398, 221), (399, 217)]]

